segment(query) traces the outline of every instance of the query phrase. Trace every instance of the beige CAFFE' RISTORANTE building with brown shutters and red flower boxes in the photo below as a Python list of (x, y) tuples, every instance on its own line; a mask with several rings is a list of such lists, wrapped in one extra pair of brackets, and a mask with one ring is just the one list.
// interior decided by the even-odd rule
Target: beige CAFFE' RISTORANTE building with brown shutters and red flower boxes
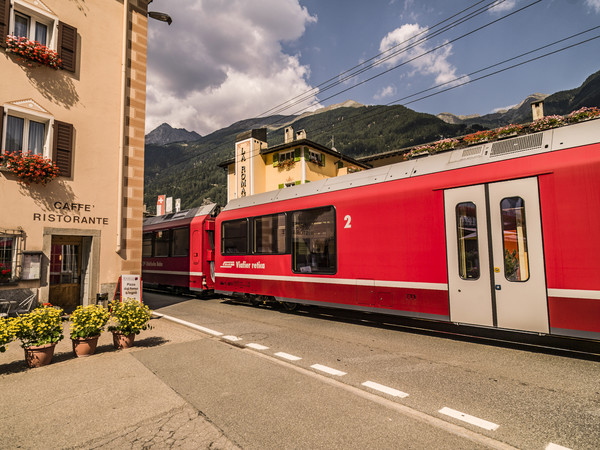
[[(0, 299), (72, 309), (141, 273), (149, 1), (0, 0)], [(15, 174), (27, 152), (59, 176)]]

